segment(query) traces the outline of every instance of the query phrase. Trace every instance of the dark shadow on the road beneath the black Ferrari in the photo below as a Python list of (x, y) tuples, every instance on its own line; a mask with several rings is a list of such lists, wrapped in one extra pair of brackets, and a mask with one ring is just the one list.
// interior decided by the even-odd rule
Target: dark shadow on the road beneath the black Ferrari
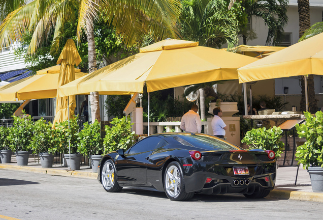
[[(150, 191), (144, 189), (135, 189), (135, 188), (123, 188), (120, 193), (126, 194), (134, 194), (140, 196), (147, 196), (147, 197), (155, 197), (161, 199), (168, 199), (164, 192), (160, 191)], [(184, 202), (268, 202), (268, 200), (273, 199), (248, 199), (244, 197), (242, 194), (224, 194), (224, 195), (203, 195), (203, 194), (195, 194), (191, 200), (184, 201)]]

